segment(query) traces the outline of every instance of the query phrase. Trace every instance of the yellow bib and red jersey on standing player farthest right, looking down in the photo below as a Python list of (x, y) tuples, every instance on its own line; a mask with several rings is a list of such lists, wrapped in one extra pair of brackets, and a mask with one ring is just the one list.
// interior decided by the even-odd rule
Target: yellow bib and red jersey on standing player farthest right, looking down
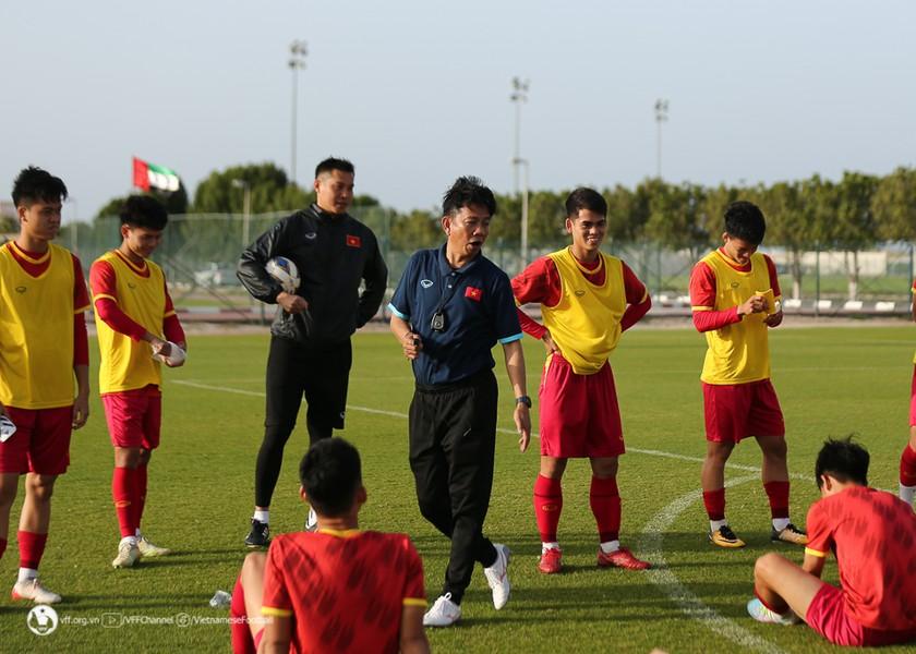
[(737, 307), (752, 295), (772, 290), (773, 301), (781, 291), (775, 266), (759, 252), (740, 266), (716, 250), (704, 256), (690, 274), (690, 304), (709, 322), (701, 330), (707, 337), (707, 354), (700, 379), (707, 384), (749, 384), (770, 378), (769, 327), (767, 314), (737, 315)]

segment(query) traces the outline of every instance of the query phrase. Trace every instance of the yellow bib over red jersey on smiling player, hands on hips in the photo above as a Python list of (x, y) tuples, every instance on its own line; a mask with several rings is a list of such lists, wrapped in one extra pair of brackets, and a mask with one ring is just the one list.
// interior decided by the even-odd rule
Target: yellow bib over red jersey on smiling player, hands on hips
[(620, 334), (651, 306), (646, 287), (632, 270), (603, 253), (589, 266), (565, 247), (532, 263), (511, 283), (516, 302), (541, 304), (544, 326), (519, 311), (525, 332), (542, 338), (550, 330), (578, 375), (601, 370)]

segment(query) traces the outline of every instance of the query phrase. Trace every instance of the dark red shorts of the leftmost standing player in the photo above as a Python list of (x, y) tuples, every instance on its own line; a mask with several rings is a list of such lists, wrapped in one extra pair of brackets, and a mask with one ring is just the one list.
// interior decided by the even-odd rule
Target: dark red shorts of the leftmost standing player
[(0, 473), (63, 474), (70, 465), (73, 407), (5, 407), (16, 433), (0, 443)]

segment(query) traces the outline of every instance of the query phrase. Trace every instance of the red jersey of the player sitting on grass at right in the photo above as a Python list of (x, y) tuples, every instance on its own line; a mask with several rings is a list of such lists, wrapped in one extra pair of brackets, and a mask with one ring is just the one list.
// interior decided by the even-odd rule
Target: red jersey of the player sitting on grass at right
[(895, 495), (853, 486), (808, 511), (806, 554), (836, 556), (846, 611), (871, 629), (916, 629), (916, 514)]

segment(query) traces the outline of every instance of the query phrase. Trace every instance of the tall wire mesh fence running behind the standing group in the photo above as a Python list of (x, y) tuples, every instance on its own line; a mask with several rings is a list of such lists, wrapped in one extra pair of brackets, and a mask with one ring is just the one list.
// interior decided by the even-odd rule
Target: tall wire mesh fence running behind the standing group
[[(390, 270), (388, 283), (394, 287), (413, 249), (393, 245), (390, 210), (370, 207), (354, 214), (378, 237)], [(176, 305), (202, 315), (220, 313), (227, 319), (260, 318), (263, 310), (236, 279), (236, 263), (244, 247), (245, 234), (253, 240), (285, 215), (172, 216), (154, 259), (166, 271)], [(96, 257), (120, 243), (118, 218), (100, 218), (92, 225), (68, 225), (62, 229), (59, 242), (73, 250), (88, 268)], [(528, 256), (522, 257), (517, 242), (491, 238), (485, 254), (514, 276), (528, 262), (566, 244), (566, 241), (535, 244), (529, 249)], [(684, 311), (689, 308), (690, 269), (708, 252), (708, 249), (671, 251), (653, 243), (613, 241), (606, 242), (604, 250), (627, 262), (650, 289), (656, 307)], [(790, 312), (858, 315), (909, 311), (909, 289), (914, 279), (911, 243), (889, 243), (855, 254), (812, 247), (794, 257), (780, 247), (764, 247), (764, 251), (776, 262), (780, 286), (786, 298), (785, 308)], [(793, 268), (796, 278), (791, 274)], [(854, 274), (856, 269), (857, 275)]]

